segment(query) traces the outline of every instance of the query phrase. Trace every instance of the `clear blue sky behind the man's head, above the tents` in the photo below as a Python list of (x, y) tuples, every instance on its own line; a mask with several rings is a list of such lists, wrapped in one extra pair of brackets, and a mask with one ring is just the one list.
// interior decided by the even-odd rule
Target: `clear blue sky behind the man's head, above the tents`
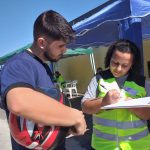
[(1, 0), (0, 57), (33, 41), (33, 23), (53, 9), (71, 21), (107, 0)]

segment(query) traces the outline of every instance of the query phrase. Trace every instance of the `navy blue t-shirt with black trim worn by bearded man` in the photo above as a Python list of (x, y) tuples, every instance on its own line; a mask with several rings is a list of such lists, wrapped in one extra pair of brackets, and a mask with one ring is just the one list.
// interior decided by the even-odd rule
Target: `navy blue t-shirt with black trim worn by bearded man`
[[(4, 109), (9, 115), (6, 105), (6, 95), (14, 87), (29, 87), (33, 89), (53, 88), (54, 84), (46, 71), (44, 64), (28, 51), (23, 51), (12, 57), (1, 71), (1, 95)], [(25, 150), (12, 139), (13, 150)]]

